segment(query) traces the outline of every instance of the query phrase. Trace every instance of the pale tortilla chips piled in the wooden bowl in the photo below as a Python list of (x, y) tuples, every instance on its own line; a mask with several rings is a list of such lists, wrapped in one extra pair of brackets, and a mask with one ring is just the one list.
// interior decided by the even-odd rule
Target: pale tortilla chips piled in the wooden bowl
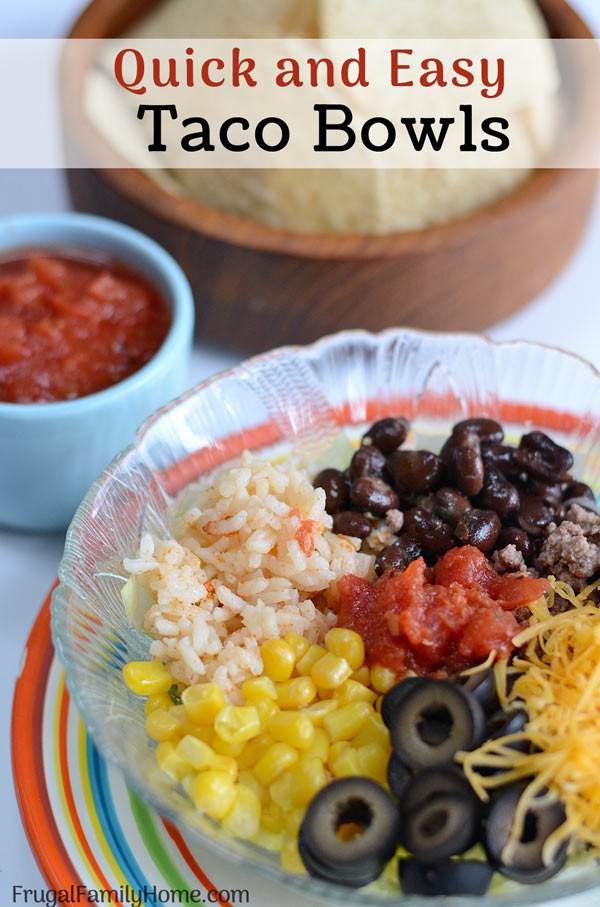
[[(140, 38), (547, 38), (535, 0), (163, 0), (132, 29)], [(543, 56), (523, 85), (513, 128), (534, 167), (553, 134), (558, 73)], [(158, 174), (164, 182), (165, 174)], [(508, 194), (527, 169), (185, 170), (170, 188), (296, 232), (381, 234), (422, 229)]]

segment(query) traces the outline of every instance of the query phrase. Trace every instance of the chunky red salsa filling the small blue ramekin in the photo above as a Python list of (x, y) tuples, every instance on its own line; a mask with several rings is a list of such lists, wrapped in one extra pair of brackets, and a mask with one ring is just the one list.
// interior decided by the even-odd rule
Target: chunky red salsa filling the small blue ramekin
[(120, 264), (30, 254), (0, 262), (0, 402), (73, 400), (154, 356), (168, 306)]

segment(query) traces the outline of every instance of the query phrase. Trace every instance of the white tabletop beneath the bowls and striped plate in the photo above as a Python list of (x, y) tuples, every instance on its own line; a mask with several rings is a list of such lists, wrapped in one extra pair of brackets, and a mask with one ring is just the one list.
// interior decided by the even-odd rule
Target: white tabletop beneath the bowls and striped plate
[[(126, 0), (124, 0), (126, 2)], [(63, 34), (81, 0), (2, 0), (0, 37), (52, 37)], [(598, 0), (574, 0), (600, 34)], [(63, 177), (56, 172), (0, 171), (0, 216), (22, 211), (60, 211), (69, 207)], [(495, 339), (526, 338), (580, 353), (600, 367), (600, 202), (586, 239), (568, 269), (524, 311), (489, 333)], [(231, 353), (194, 351), (190, 384), (237, 361)], [(56, 575), (62, 551), (60, 535), (31, 535), (0, 529), (0, 803), (4, 814), (0, 840), (0, 904), (12, 902), (13, 883), (43, 887), (19, 818), (10, 769), (10, 710), (12, 690), (23, 646), (39, 606)], [(279, 899), (281, 890), (274, 889)], [(526, 893), (524, 894), (525, 899)], [(563, 907), (592, 907), (598, 896), (568, 899)]]

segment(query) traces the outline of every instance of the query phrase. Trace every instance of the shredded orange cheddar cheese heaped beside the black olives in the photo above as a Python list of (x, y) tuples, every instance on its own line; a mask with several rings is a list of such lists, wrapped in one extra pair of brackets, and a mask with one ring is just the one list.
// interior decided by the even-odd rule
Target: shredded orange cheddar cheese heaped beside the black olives
[[(571, 837), (600, 855), (600, 606), (592, 598), (600, 580), (579, 594), (553, 577), (550, 586), (548, 598), (531, 606), (528, 627), (514, 638), (525, 650), (513, 662), (518, 676), (510, 692), (506, 662), (495, 666), (503, 708), (524, 703), (528, 724), (518, 734), (488, 740), (458, 757), (482, 800), (492, 788), (531, 779), (515, 814), (506, 857), (521, 837), (534, 798), (554, 796), (564, 804), (566, 821), (546, 841), (545, 862)], [(567, 610), (553, 613), (561, 604)], [(508, 745), (521, 740), (534, 751), (522, 753)], [(486, 767), (496, 773), (478, 771)]]

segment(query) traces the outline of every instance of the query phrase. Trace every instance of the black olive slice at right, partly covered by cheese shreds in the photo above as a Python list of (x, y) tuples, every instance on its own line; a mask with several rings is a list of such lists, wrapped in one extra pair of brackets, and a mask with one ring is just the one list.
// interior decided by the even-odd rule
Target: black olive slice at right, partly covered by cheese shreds
[(560, 847), (549, 865), (542, 860), (542, 850), (548, 837), (565, 821), (564, 807), (547, 797), (532, 801), (525, 815), (521, 839), (514, 852), (504, 859), (503, 851), (510, 838), (515, 812), (526, 783), (512, 784), (494, 798), (483, 822), (483, 844), (491, 865), (503, 875), (523, 884), (544, 882), (562, 868), (567, 844)]

